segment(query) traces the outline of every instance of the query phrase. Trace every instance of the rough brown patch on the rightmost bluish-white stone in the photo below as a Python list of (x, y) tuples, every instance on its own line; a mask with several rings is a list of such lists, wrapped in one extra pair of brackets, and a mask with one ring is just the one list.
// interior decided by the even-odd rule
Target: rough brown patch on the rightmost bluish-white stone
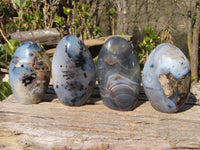
[(177, 97), (175, 103), (177, 106), (184, 103), (188, 92), (190, 91), (190, 72), (178, 80), (176, 80), (169, 72), (167, 74), (159, 75), (158, 80), (167, 98), (171, 99), (174, 96), (174, 93), (177, 92), (179, 93), (179, 96)]

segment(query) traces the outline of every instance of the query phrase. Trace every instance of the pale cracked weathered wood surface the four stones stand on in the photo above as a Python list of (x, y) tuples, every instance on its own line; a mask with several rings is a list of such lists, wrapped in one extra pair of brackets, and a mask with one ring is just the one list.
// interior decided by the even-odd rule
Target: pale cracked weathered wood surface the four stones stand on
[(61, 104), (52, 89), (33, 105), (11, 95), (0, 102), (0, 149), (200, 149), (200, 105), (193, 94), (174, 114), (154, 110), (143, 91), (128, 112), (104, 106), (97, 90), (90, 98), (96, 103), (81, 107)]

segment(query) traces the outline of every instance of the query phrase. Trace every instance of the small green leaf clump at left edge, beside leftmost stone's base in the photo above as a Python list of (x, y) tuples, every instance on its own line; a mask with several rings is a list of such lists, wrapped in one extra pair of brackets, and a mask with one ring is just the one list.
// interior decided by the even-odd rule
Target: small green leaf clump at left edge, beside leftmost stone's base
[(0, 83), (0, 101), (6, 99), (9, 95), (12, 94), (10, 84), (8, 82)]

